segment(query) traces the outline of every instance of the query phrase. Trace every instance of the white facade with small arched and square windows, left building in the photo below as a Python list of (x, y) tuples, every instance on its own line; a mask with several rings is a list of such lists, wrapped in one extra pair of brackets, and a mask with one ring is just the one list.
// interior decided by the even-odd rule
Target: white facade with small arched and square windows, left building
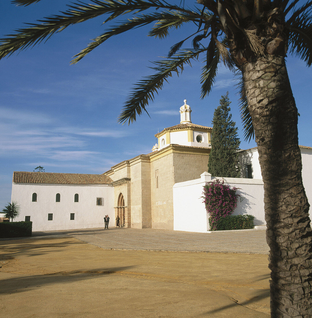
[[(37, 193), (37, 202), (32, 202), (32, 194)], [(55, 202), (56, 194), (61, 196)], [(75, 193), (79, 202), (74, 202)], [(104, 198), (104, 206), (96, 205), (96, 198)], [(114, 188), (109, 185), (55, 185), (55, 184), (12, 184), (12, 201), (21, 206), (21, 213), (14, 221), (24, 221), (31, 216), (32, 230), (66, 230), (104, 227), (104, 216), (111, 217), (114, 225)], [(48, 213), (53, 220), (48, 221)], [(70, 220), (70, 213), (75, 219)]]

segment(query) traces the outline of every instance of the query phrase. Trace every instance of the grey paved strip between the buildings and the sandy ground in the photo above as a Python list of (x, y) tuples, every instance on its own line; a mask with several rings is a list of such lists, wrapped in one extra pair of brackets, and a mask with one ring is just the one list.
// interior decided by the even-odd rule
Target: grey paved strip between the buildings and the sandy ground
[[(33, 238), (74, 237), (116, 250), (268, 254), (265, 230), (196, 233), (158, 229), (104, 228), (33, 232)], [(26, 238), (25, 238), (26, 239)]]

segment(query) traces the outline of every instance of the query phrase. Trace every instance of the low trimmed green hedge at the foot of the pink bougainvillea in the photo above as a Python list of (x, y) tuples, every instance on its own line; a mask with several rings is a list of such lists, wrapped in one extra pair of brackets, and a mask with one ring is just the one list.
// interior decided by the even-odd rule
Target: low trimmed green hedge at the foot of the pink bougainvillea
[[(247, 230), (254, 228), (254, 216), (250, 214), (245, 215), (230, 215), (220, 218), (215, 225), (214, 231), (224, 230)], [(211, 218), (209, 218), (209, 226), (211, 226)]]

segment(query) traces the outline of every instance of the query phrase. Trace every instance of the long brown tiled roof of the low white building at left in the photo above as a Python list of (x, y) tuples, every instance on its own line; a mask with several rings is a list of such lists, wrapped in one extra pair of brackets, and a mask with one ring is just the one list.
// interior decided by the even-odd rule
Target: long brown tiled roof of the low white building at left
[(113, 180), (106, 175), (89, 175), (81, 173), (26, 172), (14, 171), (13, 183), (45, 184), (109, 184)]

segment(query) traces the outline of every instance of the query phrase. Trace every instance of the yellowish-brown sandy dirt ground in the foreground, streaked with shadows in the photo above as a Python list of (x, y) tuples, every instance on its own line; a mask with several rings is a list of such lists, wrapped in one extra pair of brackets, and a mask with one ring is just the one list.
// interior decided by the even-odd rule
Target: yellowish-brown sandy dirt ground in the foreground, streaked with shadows
[(268, 255), (0, 241), (0, 317), (269, 317)]

